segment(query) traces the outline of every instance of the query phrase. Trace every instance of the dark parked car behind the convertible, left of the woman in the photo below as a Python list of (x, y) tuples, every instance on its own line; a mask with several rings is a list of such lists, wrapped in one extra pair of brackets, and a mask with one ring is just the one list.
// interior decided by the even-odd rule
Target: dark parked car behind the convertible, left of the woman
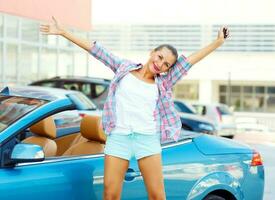
[(107, 97), (110, 80), (84, 76), (56, 76), (35, 81), (29, 85), (78, 90), (93, 100), (99, 109), (102, 109)]

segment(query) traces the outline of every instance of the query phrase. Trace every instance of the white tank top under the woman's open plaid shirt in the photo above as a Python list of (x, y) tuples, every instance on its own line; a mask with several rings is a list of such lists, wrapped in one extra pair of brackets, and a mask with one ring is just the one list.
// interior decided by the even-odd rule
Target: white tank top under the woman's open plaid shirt
[(153, 113), (158, 98), (157, 84), (146, 83), (128, 73), (116, 89), (116, 127), (113, 134), (156, 134)]

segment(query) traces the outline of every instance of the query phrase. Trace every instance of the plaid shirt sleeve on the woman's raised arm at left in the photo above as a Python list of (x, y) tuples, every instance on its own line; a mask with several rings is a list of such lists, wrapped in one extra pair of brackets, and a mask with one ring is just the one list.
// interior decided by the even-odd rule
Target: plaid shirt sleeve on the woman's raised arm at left
[(93, 55), (96, 59), (101, 61), (104, 65), (111, 68), (111, 70), (116, 73), (117, 69), (123, 62), (122, 59), (118, 58), (110, 51), (105, 49), (103, 46), (94, 42), (93, 47), (90, 50), (90, 54)]

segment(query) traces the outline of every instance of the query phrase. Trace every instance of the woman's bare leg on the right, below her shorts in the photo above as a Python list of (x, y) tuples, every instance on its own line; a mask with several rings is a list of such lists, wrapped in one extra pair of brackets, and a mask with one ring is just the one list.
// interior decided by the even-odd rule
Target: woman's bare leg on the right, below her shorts
[(161, 154), (156, 154), (138, 160), (150, 200), (164, 200), (165, 189), (162, 175)]

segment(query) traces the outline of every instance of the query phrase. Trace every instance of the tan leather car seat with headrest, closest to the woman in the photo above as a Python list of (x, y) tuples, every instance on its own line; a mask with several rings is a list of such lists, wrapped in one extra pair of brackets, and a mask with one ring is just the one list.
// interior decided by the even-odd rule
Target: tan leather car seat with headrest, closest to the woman
[(86, 115), (80, 124), (81, 142), (72, 145), (63, 155), (103, 153), (106, 136), (101, 127), (101, 118)]

